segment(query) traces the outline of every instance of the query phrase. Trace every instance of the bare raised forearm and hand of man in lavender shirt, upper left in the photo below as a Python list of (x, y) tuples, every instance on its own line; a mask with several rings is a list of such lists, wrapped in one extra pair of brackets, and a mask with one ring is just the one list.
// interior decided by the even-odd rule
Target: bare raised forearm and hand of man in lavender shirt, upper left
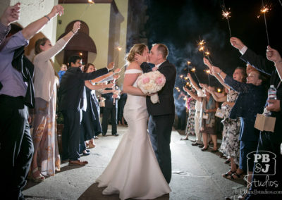
[[(52, 8), (51, 12), (47, 15), (49, 19), (56, 17), (58, 13), (61, 15), (63, 14), (63, 6), (56, 5)], [(23, 37), (25, 39), (31, 39), (37, 32), (42, 30), (42, 28), (49, 22), (47, 17), (42, 17), (39, 20), (36, 20), (33, 23), (30, 23), (22, 30)]]

